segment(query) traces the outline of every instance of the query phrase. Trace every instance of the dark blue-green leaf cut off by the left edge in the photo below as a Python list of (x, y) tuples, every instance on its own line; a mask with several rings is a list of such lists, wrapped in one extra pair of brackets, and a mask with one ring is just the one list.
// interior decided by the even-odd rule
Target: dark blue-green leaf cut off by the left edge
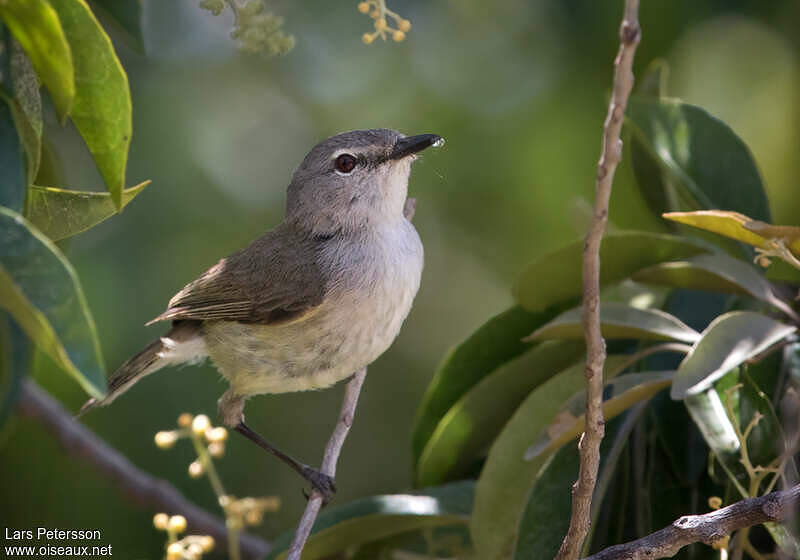
[(13, 103), (0, 93), (0, 206), (22, 211), (26, 187), (25, 164), (14, 123)]

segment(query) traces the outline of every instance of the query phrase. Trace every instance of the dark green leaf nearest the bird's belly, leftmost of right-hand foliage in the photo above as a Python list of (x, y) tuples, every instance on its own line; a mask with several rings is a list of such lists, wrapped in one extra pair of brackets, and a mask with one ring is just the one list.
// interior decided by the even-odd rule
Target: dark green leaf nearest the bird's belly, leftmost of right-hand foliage
[(467, 340), (448, 352), (417, 410), (412, 432), (415, 463), (439, 421), (453, 404), (495, 368), (528, 350), (531, 346), (522, 342), (522, 337), (555, 317), (559, 311), (561, 309), (530, 313), (519, 306), (512, 307), (489, 319)]

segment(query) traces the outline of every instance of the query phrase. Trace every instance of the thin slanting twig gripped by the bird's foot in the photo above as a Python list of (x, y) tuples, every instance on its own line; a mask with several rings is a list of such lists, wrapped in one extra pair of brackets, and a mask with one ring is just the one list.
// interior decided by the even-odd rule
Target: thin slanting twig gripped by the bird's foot
[[(361, 393), (361, 386), (364, 384), (366, 375), (367, 368), (356, 373), (347, 383), (347, 387), (344, 390), (344, 399), (342, 401), (342, 410), (339, 412), (339, 421), (336, 423), (336, 428), (333, 430), (331, 439), (328, 440), (328, 445), (325, 447), (325, 456), (322, 458), (322, 472), (328, 476), (333, 477), (336, 474), (336, 462), (339, 459), (339, 453), (342, 451), (342, 445), (344, 445), (347, 432), (350, 431), (350, 426), (353, 424), (356, 404), (358, 404), (358, 395)], [(311, 528), (314, 526), (314, 521), (316, 521), (317, 514), (319, 514), (321, 507), (322, 494), (314, 490), (311, 492), (311, 497), (309, 497), (308, 503), (306, 504), (306, 510), (303, 512), (303, 517), (300, 518), (297, 532), (289, 547), (288, 560), (300, 560), (303, 547), (308, 540), (308, 536), (311, 534)]]

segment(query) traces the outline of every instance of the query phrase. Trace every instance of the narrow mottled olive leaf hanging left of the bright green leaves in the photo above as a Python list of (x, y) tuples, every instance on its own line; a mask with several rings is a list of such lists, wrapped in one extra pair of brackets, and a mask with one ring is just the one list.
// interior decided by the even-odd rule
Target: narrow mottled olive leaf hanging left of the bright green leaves
[[(42, 97), (39, 79), (30, 59), (17, 41), (11, 41), (11, 83), (14, 93), (14, 120), (25, 148), (27, 184), (39, 171), (42, 152)], [(8, 43), (7, 43), (8, 44)]]

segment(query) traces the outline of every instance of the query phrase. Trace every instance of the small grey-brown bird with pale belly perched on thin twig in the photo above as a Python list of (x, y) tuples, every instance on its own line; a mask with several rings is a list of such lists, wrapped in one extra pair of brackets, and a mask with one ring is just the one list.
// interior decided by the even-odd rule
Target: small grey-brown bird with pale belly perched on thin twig
[(253, 395), (323, 389), (372, 363), (397, 337), (420, 284), (423, 249), (404, 215), (411, 163), (435, 134), (354, 130), (317, 144), (294, 172), (286, 217), (187, 284), (150, 321), (172, 327), (124, 362), (110, 404), (164, 366), (210, 358), (230, 384), (229, 427), (289, 464), (326, 498), (331, 477), (273, 447), (244, 422)]

